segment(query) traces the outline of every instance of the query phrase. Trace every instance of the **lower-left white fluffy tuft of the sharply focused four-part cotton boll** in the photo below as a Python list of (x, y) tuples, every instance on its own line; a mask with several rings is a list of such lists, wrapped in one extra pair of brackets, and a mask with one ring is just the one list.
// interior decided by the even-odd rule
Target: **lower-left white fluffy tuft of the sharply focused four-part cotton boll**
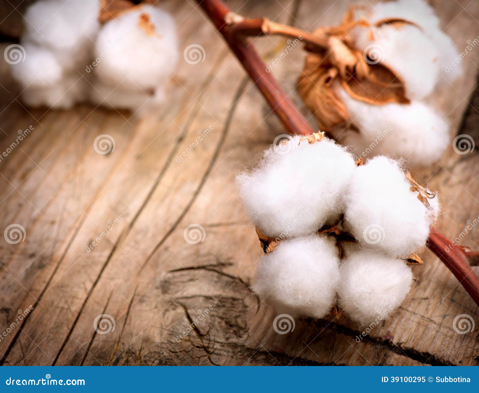
[(281, 242), (264, 254), (251, 288), (277, 312), (322, 318), (336, 300), (338, 248), (316, 234)]

